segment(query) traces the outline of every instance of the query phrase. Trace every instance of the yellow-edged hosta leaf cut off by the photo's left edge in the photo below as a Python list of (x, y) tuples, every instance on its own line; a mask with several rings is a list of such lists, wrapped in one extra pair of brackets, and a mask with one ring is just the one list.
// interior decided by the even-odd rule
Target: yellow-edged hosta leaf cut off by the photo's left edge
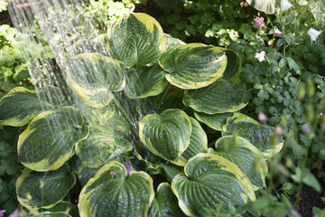
[(39, 99), (36, 91), (17, 87), (0, 99), (0, 124), (22, 127), (42, 112), (53, 108), (46, 100)]

